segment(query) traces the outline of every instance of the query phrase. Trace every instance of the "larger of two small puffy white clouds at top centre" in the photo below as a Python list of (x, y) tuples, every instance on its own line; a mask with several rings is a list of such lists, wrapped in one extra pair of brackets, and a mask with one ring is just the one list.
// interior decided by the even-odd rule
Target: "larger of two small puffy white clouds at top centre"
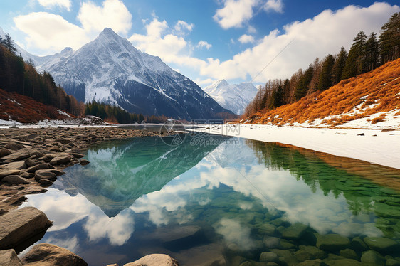
[(253, 17), (253, 6), (258, 0), (225, 0), (222, 9), (218, 9), (214, 20), (222, 28), (241, 28), (243, 23)]

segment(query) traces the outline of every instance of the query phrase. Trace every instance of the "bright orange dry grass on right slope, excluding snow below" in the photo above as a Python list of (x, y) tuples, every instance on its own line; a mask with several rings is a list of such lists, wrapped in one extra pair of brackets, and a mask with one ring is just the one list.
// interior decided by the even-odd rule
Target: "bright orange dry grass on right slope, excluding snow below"
[[(362, 97), (367, 96), (366, 99)], [(373, 104), (376, 106), (371, 106)], [(361, 105), (363, 112), (354, 112)], [(312, 122), (330, 115), (342, 115), (327, 122), (339, 125), (344, 122), (368, 117), (377, 112), (389, 112), (400, 108), (400, 59), (382, 65), (380, 68), (364, 73), (356, 78), (342, 80), (323, 92), (314, 92), (298, 102), (283, 105), (268, 112), (258, 112), (252, 124), (287, 124)], [(357, 109), (359, 110), (359, 108)], [(278, 118), (274, 118), (279, 115)], [(397, 113), (396, 115), (399, 115)], [(257, 117), (257, 118), (256, 118)], [(250, 117), (249, 117), (250, 118)]]

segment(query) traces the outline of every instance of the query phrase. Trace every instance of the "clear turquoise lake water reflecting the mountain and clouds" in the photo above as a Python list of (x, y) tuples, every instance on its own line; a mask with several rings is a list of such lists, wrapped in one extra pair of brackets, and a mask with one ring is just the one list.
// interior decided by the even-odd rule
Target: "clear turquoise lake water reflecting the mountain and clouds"
[[(298, 256), (301, 245), (331, 233), (400, 243), (400, 193), (381, 186), (399, 181), (399, 171), (278, 144), (201, 137), (177, 147), (159, 137), (91, 147), (90, 164), (65, 169), (47, 193), (23, 204), (54, 221), (39, 243), (67, 248), (89, 265), (124, 265), (150, 253), (172, 255), (179, 265), (240, 265), (259, 261), (264, 251)], [(299, 223), (307, 225), (300, 238), (285, 236)], [(353, 244), (344, 248), (357, 260), (371, 249)], [(325, 257), (341, 259), (340, 249), (325, 250)], [(379, 252), (400, 257), (397, 247)], [(288, 263), (290, 256), (281, 256)]]

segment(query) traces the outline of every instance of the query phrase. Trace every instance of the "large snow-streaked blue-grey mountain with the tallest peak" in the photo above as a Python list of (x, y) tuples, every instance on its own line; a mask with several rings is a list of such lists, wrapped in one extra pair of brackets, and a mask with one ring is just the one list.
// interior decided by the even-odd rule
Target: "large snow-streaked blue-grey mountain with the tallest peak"
[(77, 100), (119, 105), (128, 112), (177, 119), (209, 119), (223, 109), (193, 81), (158, 57), (105, 28), (94, 41), (65, 49), (38, 66)]

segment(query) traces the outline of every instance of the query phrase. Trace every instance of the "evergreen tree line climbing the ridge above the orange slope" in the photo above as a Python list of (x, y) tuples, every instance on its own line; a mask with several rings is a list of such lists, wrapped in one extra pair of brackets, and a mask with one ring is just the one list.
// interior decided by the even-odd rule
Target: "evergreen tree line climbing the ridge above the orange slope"
[(367, 73), (391, 60), (400, 58), (400, 12), (381, 27), (381, 34), (364, 31), (354, 37), (349, 53), (340, 48), (336, 55), (316, 58), (306, 70), (301, 68), (290, 79), (268, 80), (253, 101), (248, 104), (246, 117), (262, 110), (273, 110), (296, 102), (306, 95), (327, 90), (341, 80)]

